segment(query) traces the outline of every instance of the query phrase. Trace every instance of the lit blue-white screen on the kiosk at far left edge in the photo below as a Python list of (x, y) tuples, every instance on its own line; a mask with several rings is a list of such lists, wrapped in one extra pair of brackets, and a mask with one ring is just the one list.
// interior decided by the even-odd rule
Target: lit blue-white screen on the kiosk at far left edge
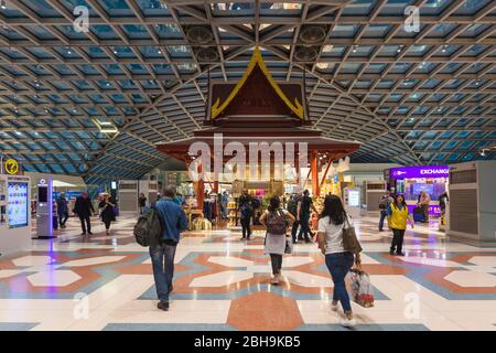
[(28, 183), (9, 182), (7, 194), (9, 228), (26, 227), (29, 220)]

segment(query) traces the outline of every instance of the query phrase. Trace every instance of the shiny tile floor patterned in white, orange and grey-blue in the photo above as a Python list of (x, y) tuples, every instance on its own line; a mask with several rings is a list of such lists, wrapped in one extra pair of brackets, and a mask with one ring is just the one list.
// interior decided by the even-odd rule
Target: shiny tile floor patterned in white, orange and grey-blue
[[(71, 218), (55, 240), (0, 257), (0, 330), (343, 330), (316, 246), (295, 245), (274, 287), (262, 232), (250, 242), (222, 229), (185, 233), (171, 310), (157, 310), (133, 223), (120, 217), (106, 236), (95, 218), (95, 234), (82, 237)], [(432, 221), (407, 232), (398, 258), (375, 218), (356, 224), (376, 296), (374, 308), (353, 303), (356, 330), (496, 330), (496, 248), (450, 243)]]

